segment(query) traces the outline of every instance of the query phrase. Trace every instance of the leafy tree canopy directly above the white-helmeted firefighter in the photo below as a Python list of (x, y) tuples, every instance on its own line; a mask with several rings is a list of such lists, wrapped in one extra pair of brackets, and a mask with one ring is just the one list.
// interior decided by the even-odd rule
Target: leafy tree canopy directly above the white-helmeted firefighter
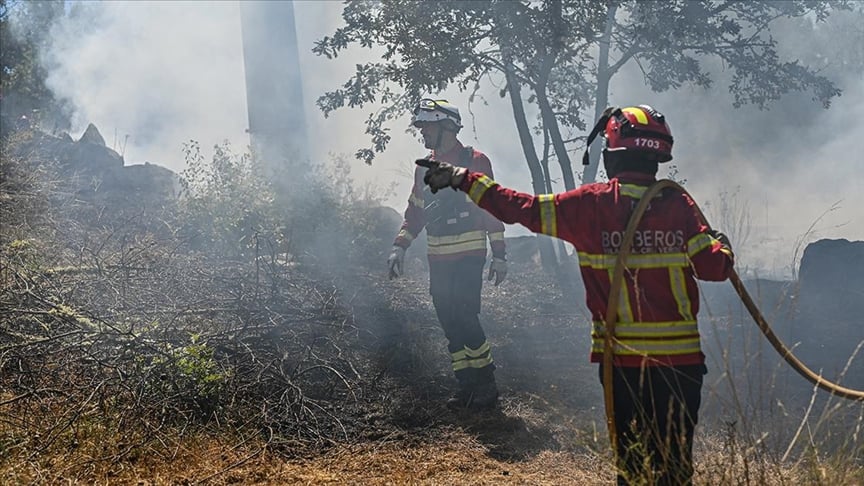
[[(549, 70), (554, 62), (585, 59), (582, 39), (598, 27), (602, 13), (601, 4), (580, 1), (348, 2), (346, 25), (313, 51), (332, 59), (352, 44), (378, 46), (384, 62), (357, 65), (355, 75), (321, 96), (318, 106), (327, 116), (345, 106), (382, 105), (367, 120), (372, 147), (357, 152), (371, 163), (390, 140), (386, 122), (408, 113), (424, 94), (451, 85), (476, 92), (484, 78), (513, 67), (521, 84), (539, 91), (535, 100), (551, 98), (561, 123), (582, 126), (579, 110), (572, 109), (581, 98), (572, 93), (585, 86), (573, 76), (550, 81)], [(512, 66), (516, 59), (519, 65)], [(556, 88), (548, 97), (547, 85)], [(558, 89), (565, 85), (569, 91)]]

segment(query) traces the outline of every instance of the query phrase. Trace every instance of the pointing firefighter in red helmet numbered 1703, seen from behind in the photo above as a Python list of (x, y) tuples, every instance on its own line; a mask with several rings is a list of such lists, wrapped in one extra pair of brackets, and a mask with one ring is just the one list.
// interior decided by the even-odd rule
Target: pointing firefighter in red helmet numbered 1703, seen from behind
[[(603, 319), (627, 222), (655, 182), (658, 163), (672, 159), (669, 126), (649, 106), (607, 109), (588, 143), (601, 131), (609, 182), (535, 196), (445, 164), (432, 165), (424, 176), (433, 191), (460, 189), (505, 223), (573, 244), (593, 319), (594, 363), (602, 363)], [(693, 433), (707, 371), (696, 323), (696, 279), (725, 280), (732, 264), (728, 239), (703, 224), (689, 197), (667, 190), (651, 201), (634, 236), (618, 306), (613, 362), (618, 484), (692, 482)]]

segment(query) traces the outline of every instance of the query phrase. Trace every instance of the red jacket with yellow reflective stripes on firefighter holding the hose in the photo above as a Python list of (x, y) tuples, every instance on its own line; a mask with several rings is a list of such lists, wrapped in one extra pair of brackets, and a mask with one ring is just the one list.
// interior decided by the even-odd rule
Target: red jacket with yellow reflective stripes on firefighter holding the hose
[[(617, 252), (633, 209), (654, 181), (629, 172), (606, 183), (535, 196), (469, 172), (460, 188), (505, 223), (573, 244), (593, 320), (591, 362), (600, 362)], [(725, 280), (733, 264), (731, 250), (707, 231), (695, 203), (683, 193), (661, 191), (651, 201), (627, 258), (615, 325), (615, 365), (704, 363), (696, 279)]]

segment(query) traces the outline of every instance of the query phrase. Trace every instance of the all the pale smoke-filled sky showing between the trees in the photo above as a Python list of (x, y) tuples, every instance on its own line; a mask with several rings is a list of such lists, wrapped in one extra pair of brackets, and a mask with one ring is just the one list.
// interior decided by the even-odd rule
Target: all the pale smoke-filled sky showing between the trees
[[(237, 151), (245, 149), (248, 122), (236, 2), (111, 1), (81, 6), (88, 14), (56, 29), (49, 56), (55, 65), (51, 86), (76, 109), (73, 137), (92, 122), (109, 146), (124, 153), (127, 164), (149, 161), (175, 171), (183, 168), (181, 147), (189, 139), (202, 147), (229, 140)], [(325, 119), (315, 99), (339, 87), (355, 64), (375, 55), (355, 50), (336, 60), (315, 56), (314, 40), (340, 25), (342, 4), (301, 1), (295, 8), (310, 152), (319, 160), (331, 154), (352, 158), (369, 143), (363, 122), (372, 108), (343, 109)], [(854, 82), (843, 80), (841, 86), (844, 94), (831, 110), (814, 104), (806, 119), (782, 109), (769, 114), (752, 107), (732, 110), (722, 83), (707, 93), (685, 88), (658, 95), (644, 87), (636, 72), (616, 78), (612, 100), (618, 105), (652, 104), (666, 114), (676, 140), (678, 177), (687, 179), (709, 217), (724, 191), (735, 195), (736, 204), (750, 208), (748, 261), (770, 276), (788, 273), (799, 241), (864, 239), (858, 148), (864, 139), (864, 82), (859, 76)], [(490, 156), (501, 183), (529, 190), (509, 101), (492, 94), (486, 97), (488, 106), (475, 102), (469, 113), (467, 96), (446, 96), (462, 109), (463, 143)], [(760, 139), (766, 124), (772, 125), (774, 135)], [(788, 129), (778, 130), (776, 124)], [(381, 187), (395, 182), (396, 195), (387, 202), (402, 211), (412, 161), (425, 151), (398, 127), (392, 134), (388, 152), (372, 167), (357, 161), (351, 176)], [(581, 152), (574, 153), (574, 163), (579, 156)], [(826, 211), (815, 232), (805, 235)], [(524, 232), (509, 227), (508, 234)]]

